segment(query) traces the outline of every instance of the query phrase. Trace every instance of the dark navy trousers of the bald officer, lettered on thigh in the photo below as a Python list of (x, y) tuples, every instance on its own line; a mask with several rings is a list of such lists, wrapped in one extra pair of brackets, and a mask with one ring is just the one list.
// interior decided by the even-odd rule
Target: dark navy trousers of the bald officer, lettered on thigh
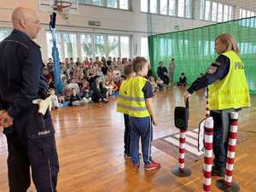
[(3, 132), (9, 152), (9, 191), (26, 192), (31, 184), (31, 167), (37, 191), (56, 192), (59, 163), (49, 112), (45, 115), (37, 111), (20, 115), (14, 125)]

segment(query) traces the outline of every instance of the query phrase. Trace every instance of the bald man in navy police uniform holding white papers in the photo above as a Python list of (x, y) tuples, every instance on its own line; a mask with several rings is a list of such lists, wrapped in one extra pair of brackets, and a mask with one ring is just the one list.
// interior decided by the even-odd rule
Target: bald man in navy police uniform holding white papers
[(41, 29), (35, 11), (17, 8), (14, 30), (0, 43), (0, 126), (8, 143), (10, 192), (26, 192), (32, 179), (38, 192), (55, 192), (59, 172), (55, 131), (49, 110), (38, 113), (35, 99), (46, 97), (42, 55), (36, 38)]

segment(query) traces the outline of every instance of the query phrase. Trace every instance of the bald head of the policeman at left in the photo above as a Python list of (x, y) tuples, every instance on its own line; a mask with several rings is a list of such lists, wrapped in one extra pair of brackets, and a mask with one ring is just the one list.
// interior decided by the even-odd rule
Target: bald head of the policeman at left
[(26, 33), (31, 39), (36, 38), (41, 29), (38, 15), (35, 10), (30, 8), (16, 8), (12, 15), (12, 21), (15, 29)]

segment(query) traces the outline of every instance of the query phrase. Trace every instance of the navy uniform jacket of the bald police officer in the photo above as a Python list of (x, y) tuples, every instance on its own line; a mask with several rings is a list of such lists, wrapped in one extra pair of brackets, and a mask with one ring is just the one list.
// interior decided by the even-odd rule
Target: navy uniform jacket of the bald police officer
[(46, 90), (38, 44), (18, 30), (0, 43), (0, 110), (13, 118), (36, 108), (32, 100)]

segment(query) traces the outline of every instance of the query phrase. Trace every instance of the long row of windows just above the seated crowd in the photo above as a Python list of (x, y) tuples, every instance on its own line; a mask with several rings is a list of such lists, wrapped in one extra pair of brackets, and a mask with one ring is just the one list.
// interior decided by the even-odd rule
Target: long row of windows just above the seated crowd
[[(1, 38), (0, 29), (0, 38)], [(46, 33), (48, 56), (51, 57), (52, 36), (50, 32)], [(79, 42), (77, 42), (77, 38)], [(70, 34), (68, 32), (56, 33), (56, 43), (59, 49), (60, 58), (96, 57), (96, 56), (122, 56), (130, 58), (131, 56), (131, 38), (128, 35), (118, 34)], [(81, 51), (78, 51), (78, 48)], [(62, 51), (61, 51), (62, 49)], [(81, 55), (78, 55), (78, 53)]]

